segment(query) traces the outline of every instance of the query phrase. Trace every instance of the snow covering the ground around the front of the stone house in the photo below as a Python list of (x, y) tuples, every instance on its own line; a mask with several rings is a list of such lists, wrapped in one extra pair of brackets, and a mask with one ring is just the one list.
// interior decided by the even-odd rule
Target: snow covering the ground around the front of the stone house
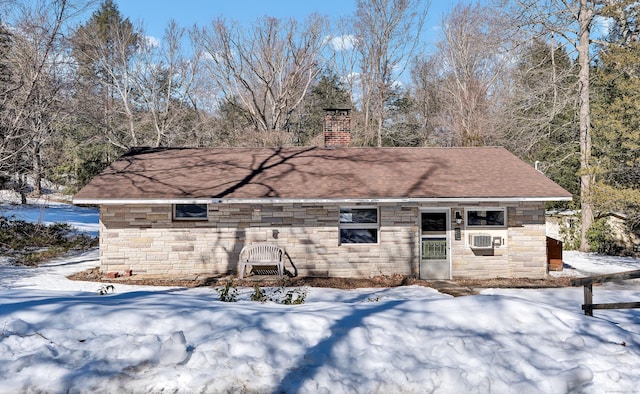
[[(253, 302), (250, 288), (237, 302), (210, 287), (99, 295), (65, 277), (98, 253), (0, 265), (0, 393), (640, 392), (640, 311), (584, 316), (582, 288), (308, 288), (302, 305)], [(565, 263), (556, 275), (640, 269), (577, 252)], [(639, 299), (635, 280), (594, 287), (595, 302)]]

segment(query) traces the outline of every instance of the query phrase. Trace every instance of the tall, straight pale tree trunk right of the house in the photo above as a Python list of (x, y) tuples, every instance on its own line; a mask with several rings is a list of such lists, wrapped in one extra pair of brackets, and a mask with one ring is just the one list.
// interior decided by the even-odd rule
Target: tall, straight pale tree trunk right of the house
[(580, 117), (580, 205), (582, 209), (582, 234), (580, 250), (589, 251), (587, 231), (593, 223), (592, 187), (594, 183), (591, 169), (591, 108), (589, 103), (589, 41), (593, 10), (587, 0), (580, 0), (578, 23), (580, 38), (578, 43), (578, 76), (579, 117)]

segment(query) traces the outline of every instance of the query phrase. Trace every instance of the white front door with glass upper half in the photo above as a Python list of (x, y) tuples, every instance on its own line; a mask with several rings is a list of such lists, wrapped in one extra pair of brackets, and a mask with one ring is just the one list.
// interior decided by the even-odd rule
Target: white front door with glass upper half
[(420, 279), (451, 279), (449, 210), (420, 212)]

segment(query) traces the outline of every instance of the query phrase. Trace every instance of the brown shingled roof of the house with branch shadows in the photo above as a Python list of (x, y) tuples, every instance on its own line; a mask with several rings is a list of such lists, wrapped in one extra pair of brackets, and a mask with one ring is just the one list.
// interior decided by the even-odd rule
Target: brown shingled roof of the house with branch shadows
[(567, 200), (504, 148), (138, 148), (75, 203), (149, 200)]

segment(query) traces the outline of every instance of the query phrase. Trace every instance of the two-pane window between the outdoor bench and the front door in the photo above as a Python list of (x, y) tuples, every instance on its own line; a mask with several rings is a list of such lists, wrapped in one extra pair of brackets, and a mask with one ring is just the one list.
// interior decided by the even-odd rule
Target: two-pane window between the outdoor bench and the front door
[(340, 243), (378, 243), (378, 208), (340, 208)]

